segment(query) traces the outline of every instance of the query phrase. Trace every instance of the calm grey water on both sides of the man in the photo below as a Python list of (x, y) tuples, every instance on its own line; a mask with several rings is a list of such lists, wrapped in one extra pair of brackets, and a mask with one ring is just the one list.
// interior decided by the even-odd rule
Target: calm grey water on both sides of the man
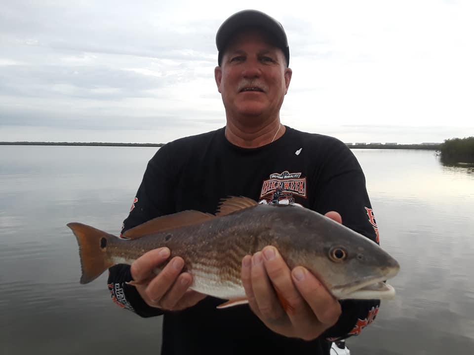
[[(158, 354), (160, 318), (80, 285), (66, 223), (117, 234), (156, 148), (0, 146), (0, 354)], [(397, 297), (347, 343), (359, 354), (474, 353), (474, 168), (433, 151), (354, 150)]]

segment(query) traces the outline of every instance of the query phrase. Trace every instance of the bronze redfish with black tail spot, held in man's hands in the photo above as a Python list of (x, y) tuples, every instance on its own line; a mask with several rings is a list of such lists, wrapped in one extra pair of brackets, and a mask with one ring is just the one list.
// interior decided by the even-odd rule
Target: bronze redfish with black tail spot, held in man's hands
[[(300, 206), (263, 205), (246, 198), (224, 200), (214, 214), (183, 211), (127, 230), (123, 238), (81, 223), (68, 223), (79, 244), (81, 284), (116, 264), (131, 264), (145, 252), (168, 247), (193, 275), (191, 289), (245, 303), (241, 260), (272, 245), (289, 268), (304, 266), (337, 299), (390, 299), (385, 281), (398, 262), (377, 243), (320, 213)], [(164, 265), (163, 265), (164, 266)], [(159, 270), (157, 270), (157, 273)]]

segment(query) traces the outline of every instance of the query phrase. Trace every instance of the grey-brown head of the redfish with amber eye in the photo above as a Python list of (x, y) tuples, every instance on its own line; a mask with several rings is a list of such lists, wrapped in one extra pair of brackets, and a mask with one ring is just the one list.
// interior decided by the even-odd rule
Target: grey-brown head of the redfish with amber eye
[(321, 214), (295, 220), (290, 267), (306, 266), (338, 299), (392, 299), (395, 289), (385, 281), (400, 266), (369, 238)]

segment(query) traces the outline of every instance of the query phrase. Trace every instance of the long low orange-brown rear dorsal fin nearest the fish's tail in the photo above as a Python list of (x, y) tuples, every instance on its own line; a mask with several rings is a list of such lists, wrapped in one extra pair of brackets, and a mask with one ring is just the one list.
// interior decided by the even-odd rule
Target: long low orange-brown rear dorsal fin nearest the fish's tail
[(144, 235), (160, 233), (170, 229), (202, 223), (214, 217), (215, 216), (213, 214), (194, 210), (166, 214), (150, 219), (145, 223), (127, 230), (125, 233), (123, 233), (123, 238), (136, 239), (143, 237)]

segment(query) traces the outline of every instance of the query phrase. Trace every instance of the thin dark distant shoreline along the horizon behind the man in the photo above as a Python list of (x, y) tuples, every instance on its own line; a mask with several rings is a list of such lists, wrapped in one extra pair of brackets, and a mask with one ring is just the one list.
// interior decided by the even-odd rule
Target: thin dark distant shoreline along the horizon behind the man
[[(56, 145), (56, 146), (142, 146), (161, 147), (165, 143), (113, 143), (113, 142), (0, 142), (0, 145)], [(351, 144), (351, 149), (416, 149), (439, 150), (441, 144)]]

